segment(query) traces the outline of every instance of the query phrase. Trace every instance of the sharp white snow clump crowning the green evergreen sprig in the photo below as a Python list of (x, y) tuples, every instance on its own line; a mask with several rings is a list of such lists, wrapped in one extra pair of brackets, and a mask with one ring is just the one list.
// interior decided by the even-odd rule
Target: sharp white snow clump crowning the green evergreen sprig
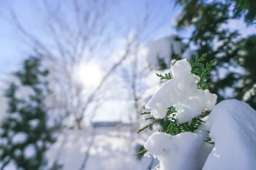
[(151, 115), (163, 118), (170, 106), (177, 110), (175, 119), (178, 123), (191, 121), (202, 111), (212, 110), (217, 96), (208, 90), (198, 89), (199, 77), (191, 74), (191, 65), (186, 59), (171, 65), (172, 79), (165, 82), (152, 96), (145, 108), (151, 108)]

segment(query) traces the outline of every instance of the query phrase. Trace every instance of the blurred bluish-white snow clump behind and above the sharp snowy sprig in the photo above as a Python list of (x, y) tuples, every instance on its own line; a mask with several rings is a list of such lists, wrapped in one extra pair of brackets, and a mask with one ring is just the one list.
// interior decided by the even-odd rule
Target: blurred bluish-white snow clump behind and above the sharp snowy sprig
[(166, 65), (169, 66), (172, 53), (181, 56), (183, 43), (180, 40), (175, 40), (175, 37), (175, 35), (165, 37), (148, 45), (147, 61), (149, 65), (157, 68), (159, 66), (157, 57), (159, 57), (164, 59)]

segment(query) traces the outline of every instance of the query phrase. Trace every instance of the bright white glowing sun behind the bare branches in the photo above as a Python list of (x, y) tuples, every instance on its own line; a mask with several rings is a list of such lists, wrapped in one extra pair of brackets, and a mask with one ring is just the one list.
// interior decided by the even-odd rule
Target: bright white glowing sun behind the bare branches
[(99, 65), (80, 65), (79, 79), (84, 84), (84, 86), (93, 87), (99, 85), (102, 79), (102, 71), (99, 68)]

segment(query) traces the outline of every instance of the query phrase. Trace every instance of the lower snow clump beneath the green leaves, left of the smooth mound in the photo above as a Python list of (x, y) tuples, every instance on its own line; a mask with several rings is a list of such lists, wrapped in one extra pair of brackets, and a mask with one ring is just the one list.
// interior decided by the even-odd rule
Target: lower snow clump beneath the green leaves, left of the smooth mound
[[(145, 149), (157, 157), (160, 161), (162, 170), (199, 170), (204, 165), (202, 153), (209, 150), (205, 149), (204, 138), (207, 136), (204, 124), (199, 130), (183, 132), (172, 136), (163, 132), (155, 132), (145, 142)], [(201, 149), (201, 147), (204, 148)]]

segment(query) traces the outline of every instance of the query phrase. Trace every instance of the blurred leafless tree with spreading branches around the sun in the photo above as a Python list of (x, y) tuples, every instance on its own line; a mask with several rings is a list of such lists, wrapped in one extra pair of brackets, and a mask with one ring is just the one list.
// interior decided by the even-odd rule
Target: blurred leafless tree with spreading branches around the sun
[[(123, 61), (131, 57), (131, 54), (137, 56), (137, 50), (142, 42), (145, 42), (148, 36), (159, 28), (159, 25), (151, 26), (156, 15), (145, 3), (145, 10), (134, 26), (127, 22), (127, 26), (119, 26), (111, 18), (111, 9), (119, 1), (113, 0), (71, 0), (71, 1), (32, 1), (34, 8), (40, 15), (41, 28), (32, 31), (26, 28), (19, 20), (15, 8), (11, 8), (10, 15), (6, 19), (17, 28), (17, 30), (28, 42), (31, 48), (37, 54), (40, 54), (45, 60), (45, 65), (50, 69), (49, 76), (52, 88), (52, 98), (50, 102), (52, 110), (58, 114), (56, 123), (60, 124), (66, 116), (74, 116), (76, 126), (81, 129), (81, 122), (85, 113), (91, 105), (95, 105), (97, 96), (102, 95), (108, 90), (110, 85), (106, 85), (106, 80), (113, 75)], [(154, 11), (157, 13), (156, 10)], [(120, 32), (121, 37), (125, 38), (124, 53), (116, 62), (111, 60), (111, 51), (113, 51), (112, 38), (113, 32), (119, 31), (122, 27), (126, 32)], [(146, 31), (150, 27), (149, 30)], [(116, 29), (116, 30), (115, 30)], [(131, 34), (133, 30), (134, 34)], [(40, 33), (38, 33), (38, 31)], [(99, 51), (108, 51), (106, 54)], [(141, 75), (137, 75), (135, 57), (132, 69), (133, 80), (131, 88), (133, 89), (133, 99), (135, 112), (140, 112), (140, 95), (137, 94), (138, 81)], [(90, 65), (92, 62), (108, 62), (108, 67), (104, 68), (100, 81), (94, 87), (86, 87), (76, 76), (76, 69), (81, 63)], [(101, 64), (99, 63), (99, 64)], [(93, 74), (93, 73), (92, 73)], [(89, 80), (90, 81), (90, 80)], [(99, 97), (98, 97), (99, 98)], [(61, 113), (62, 116), (59, 116)]]

